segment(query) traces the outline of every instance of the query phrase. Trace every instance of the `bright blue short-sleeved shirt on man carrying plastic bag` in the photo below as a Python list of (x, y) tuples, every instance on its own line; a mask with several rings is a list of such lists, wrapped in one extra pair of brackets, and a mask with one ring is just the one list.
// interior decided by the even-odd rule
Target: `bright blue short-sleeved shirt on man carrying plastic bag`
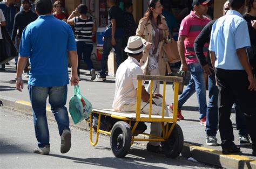
[(39, 16), (22, 33), (19, 56), (29, 57), (29, 84), (52, 87), (69, 84), (68, 51), (76, 51), (71, 26), (53, 15)]

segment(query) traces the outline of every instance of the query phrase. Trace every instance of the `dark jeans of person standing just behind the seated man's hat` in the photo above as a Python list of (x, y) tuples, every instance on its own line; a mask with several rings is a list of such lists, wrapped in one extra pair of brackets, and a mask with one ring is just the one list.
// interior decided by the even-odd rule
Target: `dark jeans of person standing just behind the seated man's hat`
[(102, 52), (102, 61), (101, 66), (102, 70), (100, 71), (100, 76), (106, 77), (106, 65), (107, 65), (107, 59), (109, 59), (109, 53), (114, 48), (114, 53), (116, 54), (116, 62), (117, 62), (117, 68), (122, 63), (122, 43), (123, 38), (116, 38), (116, 46), (113, 46), (111, 44), (111, 37), (105, 37), (104, 38), (104, 44), (103, 44), (103, 52)]

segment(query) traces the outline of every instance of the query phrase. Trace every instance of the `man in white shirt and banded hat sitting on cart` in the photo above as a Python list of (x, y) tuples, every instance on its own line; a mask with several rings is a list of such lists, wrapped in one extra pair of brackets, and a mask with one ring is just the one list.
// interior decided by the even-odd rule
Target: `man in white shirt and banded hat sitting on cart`
[[(145, 47), (140, 37), (132, 36), (129, 38), (127, 47), (125, 48), (125, 52), (129, 57), (118, 67), (116, 73), (116, 91), (112, 105), (114, 110), (124, 112), (136, 111), (137, 75), (143, 74), (139, 66), (139, 61), (142, 59)], [(160, 94), (153, 94), (152, 115), (162, 114), (161, 105), (163, 99), (161, 97)], [(141, 112), (144, 114), (149, 114), (149, 99), (150, 94), (145, 90), (143, 81)], [(165, 116), (169, 116), (167, 107), (165, 107)], [(161, 130), (160, 122), (151, 123), (151, 135), (161, 136)], [(161, 153), (160, 142), (147, 143), (147, 151)]]

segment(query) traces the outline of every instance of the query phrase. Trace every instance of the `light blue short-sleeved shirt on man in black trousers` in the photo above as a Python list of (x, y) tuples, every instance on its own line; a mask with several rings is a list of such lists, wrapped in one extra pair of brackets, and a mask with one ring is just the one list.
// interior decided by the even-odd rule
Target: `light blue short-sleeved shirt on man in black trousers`
[(237, 49), (250, 46), (247, 23), (238, 11), (228, 10), (213, 24), (209, 51), (215, 52), (216, 68), (244, 70)]

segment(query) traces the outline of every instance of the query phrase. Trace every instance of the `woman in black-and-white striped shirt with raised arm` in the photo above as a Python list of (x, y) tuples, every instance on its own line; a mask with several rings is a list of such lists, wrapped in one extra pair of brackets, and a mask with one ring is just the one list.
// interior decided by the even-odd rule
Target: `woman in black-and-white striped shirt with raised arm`
[[(88, 8), (85, 4), (78, 5), (77, 9), (69, 16), (68, 24), (75, 26), (78, 54), (78, 76), (80, 77), (80, 59), (83, 54), (84, 62), (87, 64), (91, 73), (91, 80), (95, 80), (96, 74), (91, 60), (91, 53), (93, 50), (92, 33), (95, 33), (97, 28), (95, 20), (86, 15), (87, 11)], [(80, 14), (79, 17), (75, 17), (77, 12)]]

